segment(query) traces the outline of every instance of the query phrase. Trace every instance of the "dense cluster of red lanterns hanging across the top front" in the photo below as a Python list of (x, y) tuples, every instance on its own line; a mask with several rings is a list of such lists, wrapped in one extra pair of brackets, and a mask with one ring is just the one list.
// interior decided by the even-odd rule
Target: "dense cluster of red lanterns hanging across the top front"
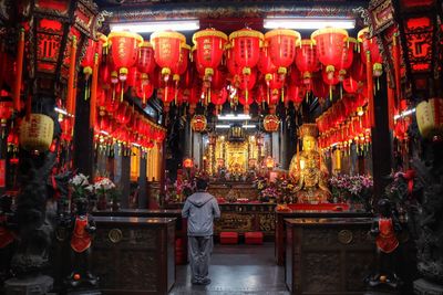
[[(185, 41), (184, 35), (171, 31), (153, 33), (151, 42), (135, 33), (112, 32), (107, 39), (102, 35), (91, 41), (84, 73), (94, 75), (94, 65), (99, 69), (95, 92), (106, 99), (123, 97), (131, 86), (143, 103), (157, 88), (165, 110), (173, 102), (189, 104), (193, 113), (198, 103), (219, 108), (230, 99), (244, 105), (246, 113), (254, 102), (267, 104), (274, 113), (280, 99), (299, 105), (308, 91), (326, 98), (339, 82), (344, 89), (362, 92), (361, 85), (369, 77), (367, 65), (371, 65), (371, 77), (382, 70), (377, 42), (368, 38), (367, 30), (359, 33), (359, 40), (331, 28), (301, 40), (292, 30), (264, 35), (243, 29), (227, 36), (206, 29), (194, 34), (193, 49)], [(360, 45), (361, 54), (356, 54)], [(365, 83), (369, 97), (372, 84)], [(96, 97), (91, 94), (92, 101)]]

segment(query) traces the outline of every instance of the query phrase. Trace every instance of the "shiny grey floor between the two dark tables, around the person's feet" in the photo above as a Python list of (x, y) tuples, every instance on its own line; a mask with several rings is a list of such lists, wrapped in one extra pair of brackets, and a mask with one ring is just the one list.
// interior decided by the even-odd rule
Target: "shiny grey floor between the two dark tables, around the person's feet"
[(285, 268), (274, 260), (274, 243), (264, 245), (215, 245), (209, 277), (212, 284), (190, 284), (188, 265), (177, 267), (172, 295), (286, 295)]

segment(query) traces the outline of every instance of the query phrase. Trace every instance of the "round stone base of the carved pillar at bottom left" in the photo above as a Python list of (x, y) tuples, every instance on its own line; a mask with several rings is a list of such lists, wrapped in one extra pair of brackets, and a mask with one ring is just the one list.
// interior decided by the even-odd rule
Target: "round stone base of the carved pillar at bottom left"
[(53, 284), (54, 280), (48, 275), (14, 277), (4, 282), (4, 291), (7, 295), (43, 295), (50, 293)]

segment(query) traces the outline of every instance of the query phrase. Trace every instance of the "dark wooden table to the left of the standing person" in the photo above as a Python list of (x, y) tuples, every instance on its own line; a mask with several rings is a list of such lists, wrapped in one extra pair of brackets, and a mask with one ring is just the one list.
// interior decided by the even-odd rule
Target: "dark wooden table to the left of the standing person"
[(103, 294), (167, 294), (175, 283), (175, 219), (96, 217), (93, 273)]

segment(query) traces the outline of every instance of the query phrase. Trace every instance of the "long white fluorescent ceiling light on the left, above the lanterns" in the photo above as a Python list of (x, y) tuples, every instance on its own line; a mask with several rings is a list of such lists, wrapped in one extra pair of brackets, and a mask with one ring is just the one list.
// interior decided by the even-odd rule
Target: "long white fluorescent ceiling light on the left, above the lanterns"
[(198, 20), (174, 20), (153, 22), (111, 23), (111, 31), (130, 31), (135, 33), (152, 33), (155, 31), (196, 31), (200, 28)]

